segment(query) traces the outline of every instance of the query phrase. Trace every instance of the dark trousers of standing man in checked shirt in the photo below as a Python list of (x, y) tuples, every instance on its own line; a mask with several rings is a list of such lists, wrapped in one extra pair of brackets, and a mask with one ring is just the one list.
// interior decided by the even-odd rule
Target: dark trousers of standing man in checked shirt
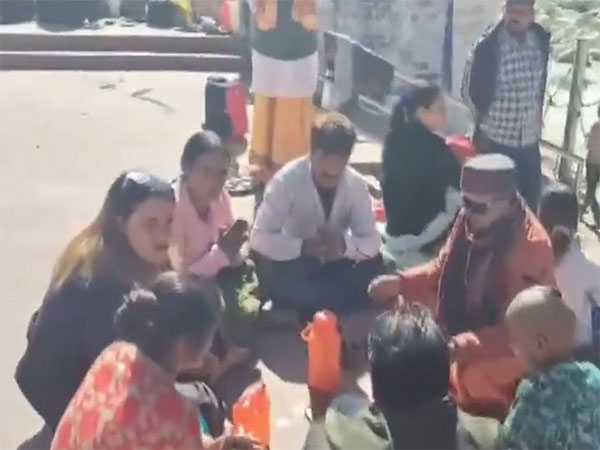
[(478, 153), (500, 153), (514, 161), (517, 168), (519, 192), (525, 199), (527, 206), (534, 213), (537, 213), (542, 190), (540, 144), (535, 143), (527, 147), (508, 147), (491, 141), (479, 132), (476, 137), (476, 147)]

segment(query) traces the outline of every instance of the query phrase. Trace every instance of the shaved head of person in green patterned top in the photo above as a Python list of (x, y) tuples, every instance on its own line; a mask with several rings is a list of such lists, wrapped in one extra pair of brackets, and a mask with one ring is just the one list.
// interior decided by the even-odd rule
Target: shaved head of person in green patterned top
[(560, 292), (549, 286), (524, 290), (506, 311), (512, 348), (532, 372), (544, 371), (571, 355), (575, 322)]

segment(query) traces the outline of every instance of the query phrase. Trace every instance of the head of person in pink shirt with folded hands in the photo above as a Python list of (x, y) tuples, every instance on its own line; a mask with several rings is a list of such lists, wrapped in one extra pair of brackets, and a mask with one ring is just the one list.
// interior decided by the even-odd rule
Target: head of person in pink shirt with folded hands
[(181, 172), (194, 201), (207, 203), (221, 195), (229, 162), (216, 133), (202, 131), (188, 139), (181, 155)]

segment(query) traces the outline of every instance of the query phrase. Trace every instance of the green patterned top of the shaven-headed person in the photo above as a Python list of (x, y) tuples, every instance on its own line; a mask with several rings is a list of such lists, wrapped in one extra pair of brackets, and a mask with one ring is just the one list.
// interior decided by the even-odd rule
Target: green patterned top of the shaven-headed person
[(600, 370), (563, 363), (519, 385), (502, 426), (507, 448), (600, 448)]

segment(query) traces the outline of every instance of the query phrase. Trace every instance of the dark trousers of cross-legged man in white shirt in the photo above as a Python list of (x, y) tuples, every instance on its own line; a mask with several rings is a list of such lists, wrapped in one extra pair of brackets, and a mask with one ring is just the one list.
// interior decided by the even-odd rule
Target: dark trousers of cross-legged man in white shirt
[(308, 317), (328, 309), (344, 313), (368, 307), (369, 283), (383, 273), (380, 255), (366, 261), (343, 259), (327, 264), (309, 258), (271, 261), (255, 255), (261, 288), (275, 307)]

